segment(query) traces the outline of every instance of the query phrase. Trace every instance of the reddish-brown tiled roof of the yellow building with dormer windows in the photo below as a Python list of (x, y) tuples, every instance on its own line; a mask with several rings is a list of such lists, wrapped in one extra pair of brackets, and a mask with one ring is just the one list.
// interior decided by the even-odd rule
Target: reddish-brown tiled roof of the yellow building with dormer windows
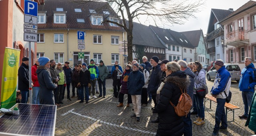
[[(64, 12), (66, 12), (65, 24), (54, 23), (54, 12), (56, 12), (56, 8), (63, 8)], [(75, 12), (75, 8), (80, 8), (82, 12)], [(122, 27), (114, 27), (108, 24), (92, 25), (89, 9), (95, 10), (98, 16), (103, 16), (102, 10), (108, 10), (110, 12), (109, 17), (117, 17), (117, 14), (107, 2), (45, 0), (44, 5), (38, 6), (38, 12), (46, 12), (46, 23), (38, 24), (38, 29), (98, 29), (123, 31)], [(77, 18), (84, 19), (85, 23), (78, 23)]]

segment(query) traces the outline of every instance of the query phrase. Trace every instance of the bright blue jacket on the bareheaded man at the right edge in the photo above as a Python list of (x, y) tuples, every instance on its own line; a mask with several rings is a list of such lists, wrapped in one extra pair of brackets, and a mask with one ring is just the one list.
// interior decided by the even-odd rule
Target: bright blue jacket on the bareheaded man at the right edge
[[(256, 85), (256, 69), (254, 64), (249, 64), (242, 69), (240, 75), (239, 89), (240, 91), (251, 91), (254, 93), (254, 86)], [(248, 88), (250, 87), (250, 89)]]

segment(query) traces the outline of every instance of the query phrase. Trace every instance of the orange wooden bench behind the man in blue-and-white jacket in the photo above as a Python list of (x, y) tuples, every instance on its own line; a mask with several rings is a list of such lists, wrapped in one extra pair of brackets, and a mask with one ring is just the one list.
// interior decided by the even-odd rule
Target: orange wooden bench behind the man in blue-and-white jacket
[[(210, 109), (212, 108), (212, 101), (214, 101), (215, 103), (217, 103), (216, 98), (212, 97), (211, 95), (206, 95), (204, 97), (204, 109), (205, 109), (205, 102), (206, 101), (210, 101)], [(234, 122), (234, 116), (235, 116), (235, 109), (240, 109), (240, 107), (236, 106), (236, 105), (232, 105), (230, 103), (225, 103), (225, 107), (226, 107), (226, 119), (227, 122)], [(228, 113), (232, 112), (233, 113), (233, 121), (228, 121)]]

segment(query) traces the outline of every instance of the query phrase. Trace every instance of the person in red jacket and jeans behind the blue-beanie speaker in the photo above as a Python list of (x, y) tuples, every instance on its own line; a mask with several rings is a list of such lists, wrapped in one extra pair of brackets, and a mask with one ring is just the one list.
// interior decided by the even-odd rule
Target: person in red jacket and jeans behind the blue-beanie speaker
[(31, 67), (31, 78), (32, 78), (32, 82), (34, 83), (34, 85), (32, 87), (32, 90), (33, 90), (32, 104), (40, 104), (39, 95), (38, 95), (40, 85), (39, 85), (37, 74), (36, 74), (37, 66), (39, 66), (38, 58), (36, 59), (36, 63)]

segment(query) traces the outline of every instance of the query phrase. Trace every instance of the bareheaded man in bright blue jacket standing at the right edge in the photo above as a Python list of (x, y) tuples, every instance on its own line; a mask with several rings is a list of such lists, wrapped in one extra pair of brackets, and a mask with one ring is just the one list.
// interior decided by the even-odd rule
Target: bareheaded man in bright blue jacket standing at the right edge
[(240, 76), (239, 89), (242, 91), (242, 98), (244, 102), (244, 115), (239, 116), (240, 119), (247, 119), (249, 107), (252, 103), (252, 96), (254, 94), (254, 86), (256, 85), (256, 69), (252, 64), (252, 59), (244, 58), (245, 67)]

